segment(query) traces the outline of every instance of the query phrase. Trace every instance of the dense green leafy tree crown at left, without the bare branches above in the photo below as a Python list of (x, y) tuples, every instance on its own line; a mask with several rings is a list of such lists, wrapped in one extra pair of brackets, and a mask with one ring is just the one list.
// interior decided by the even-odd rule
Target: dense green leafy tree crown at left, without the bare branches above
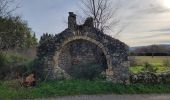
[(35, 34), (19, 16), (0, 17), (0, 49), (29, 48), (37, 44)]

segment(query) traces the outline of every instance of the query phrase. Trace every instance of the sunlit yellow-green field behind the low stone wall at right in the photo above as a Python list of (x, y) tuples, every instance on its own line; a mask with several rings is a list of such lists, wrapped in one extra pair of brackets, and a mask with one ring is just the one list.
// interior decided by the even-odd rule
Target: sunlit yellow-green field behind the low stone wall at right
[(138, 73), (143, 69), (143, 65), (145, 62), (152, 64), (155, 68), (157, 68), (157, 73), (162, 72), (170, 72), (170, 67), (166, 67), (163, 64), (164, 60), (170, 61), (170, 56), (135, 56), (136, 59), (136, 66), (131, 66), (130, 71), (132, 73)]

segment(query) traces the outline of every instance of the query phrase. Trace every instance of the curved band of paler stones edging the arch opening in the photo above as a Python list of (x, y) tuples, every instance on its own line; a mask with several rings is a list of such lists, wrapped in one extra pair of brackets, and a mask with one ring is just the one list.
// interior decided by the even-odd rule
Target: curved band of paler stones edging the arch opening
[[(53, 64), (54, 64), (54, 73), (57, 72), (59, 69), (62, 69), (60, 64), (59, 64), (59, 58), (60, 55), (62, 53), (62, 50), (65, 49), (65, 47), (67, 46), (67, 44), (73, 42), (73, 41), (79, 41), (79, 40), (85, 40), (88, 41), (94, 45), (96, 45), (98, 48), (101, 49), (102, 53), (105, 56), (106, 59), (106, 64), (107, 64), (107, 69), (105, 69), (105, 73), (107, 76), (112, 76), (113, 75), (113, 70), (112, 70), (112, 58), (109, 55), (109, 52), (107, 51), (106, 47), (104, 47), (104, 45), (102, 43), (100, 43), (99, 41), (96, 41), (90, 37), (87, 36), (74, 36), (74, 37), (70, 37), (68, 39), (66, 39), (62, 44), (60, 49), (58, 49), (55, 52), (55, 56), (53, 57)], [(69, 67), (69, 66), (68, 66)], [(67, 73), (64, 69), (62, 69), (64, 73)], [(68, 73), (67, 73), (68, 74)]]

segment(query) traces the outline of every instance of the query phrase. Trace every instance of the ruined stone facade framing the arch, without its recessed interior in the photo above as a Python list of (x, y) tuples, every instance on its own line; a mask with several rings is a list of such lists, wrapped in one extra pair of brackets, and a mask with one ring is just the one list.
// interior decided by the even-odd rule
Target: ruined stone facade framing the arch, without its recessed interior
[[(109, 80), (123, 82), (128, 80), (128, 46), (93, 27), (93, 19), (87, 18), (83, 25), (77, 25), (76, 15), (69, 13), (68, 28), (55, 36), (44, 34), (38, 46), (38, 58), (43, 62), (44, 72), (49, 79), (57, 79), (64, 71), (60, 69), (59, 58), (69, 43), (84, 40), (94, 44), (103, 52), (108, 69)], [(49, 73), (50, 71), (50, 73)]]

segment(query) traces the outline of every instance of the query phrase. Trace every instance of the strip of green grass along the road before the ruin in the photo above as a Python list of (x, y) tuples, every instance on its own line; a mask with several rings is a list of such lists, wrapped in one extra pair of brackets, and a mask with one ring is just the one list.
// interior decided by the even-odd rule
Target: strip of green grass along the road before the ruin
[(81, 94), (170, 93), (170, 85), (123, 85), (105, 81), (67, 80), (39, 83), (34, 88), (17, 88), (0, 82), (0, 100), (47, 98)]

